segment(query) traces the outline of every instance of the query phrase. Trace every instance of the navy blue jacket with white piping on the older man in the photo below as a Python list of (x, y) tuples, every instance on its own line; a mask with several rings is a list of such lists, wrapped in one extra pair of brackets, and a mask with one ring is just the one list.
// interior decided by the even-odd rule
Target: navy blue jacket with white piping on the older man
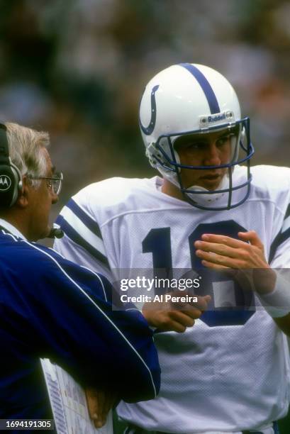
[(40, 357), (82, 385), (152, 399), (160, 367), (138, 311), (113, 311), (109, 282), (0, 230), (0, 418), (51, 418)]

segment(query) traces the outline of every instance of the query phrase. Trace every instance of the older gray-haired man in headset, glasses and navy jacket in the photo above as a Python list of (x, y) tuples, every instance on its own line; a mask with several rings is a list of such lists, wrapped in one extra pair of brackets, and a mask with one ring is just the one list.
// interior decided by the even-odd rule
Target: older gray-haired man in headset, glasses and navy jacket
[(62, 184), (48, 144), (48, 133), (0, 124), (0, 419), (52, 417), (40, 357), (116, 401), (152, 399), (160, 386), (143, 316), (113, 311), (104, 277), (34, 243), (50, 232)]

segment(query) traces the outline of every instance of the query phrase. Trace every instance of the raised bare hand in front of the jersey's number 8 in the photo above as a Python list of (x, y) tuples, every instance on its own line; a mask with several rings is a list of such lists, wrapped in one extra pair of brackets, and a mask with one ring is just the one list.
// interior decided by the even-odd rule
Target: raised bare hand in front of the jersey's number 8
[(204, 267), (230, 272), (240, 284), (260, 294), (274, 289), (276, 273), (269, 266), (264, 245), (255, 230), (239, 232), (240, 240), (225, 235), (203, 234), (194, 243)]

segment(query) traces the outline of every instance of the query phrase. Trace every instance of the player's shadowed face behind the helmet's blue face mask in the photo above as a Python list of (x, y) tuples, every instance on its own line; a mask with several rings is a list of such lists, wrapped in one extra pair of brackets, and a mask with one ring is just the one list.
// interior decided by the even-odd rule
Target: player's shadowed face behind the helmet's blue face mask
[[(219, 166), (231, 160), (231, 138), (234, 133), (221, 130), (206, 134), (185, 135), (177, 139), (174, 148), (177, 150), (182, 165)], [(220, 169), (182, 169), (181, 177), (185, 188), (199, 186), (215, 190), (227, 171)]]

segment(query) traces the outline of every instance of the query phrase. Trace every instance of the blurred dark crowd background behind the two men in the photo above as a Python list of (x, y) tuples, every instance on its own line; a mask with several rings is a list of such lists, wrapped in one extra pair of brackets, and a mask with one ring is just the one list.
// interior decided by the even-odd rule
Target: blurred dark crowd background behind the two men
[(151, 176), (138, 130), (147, 81), (204, 63), (252, 119), (257, 163), (290, 162), (290, 2), (1, 0), (0, 118), (48, 130), (65, 175), (55, 216), (84, 185)]

